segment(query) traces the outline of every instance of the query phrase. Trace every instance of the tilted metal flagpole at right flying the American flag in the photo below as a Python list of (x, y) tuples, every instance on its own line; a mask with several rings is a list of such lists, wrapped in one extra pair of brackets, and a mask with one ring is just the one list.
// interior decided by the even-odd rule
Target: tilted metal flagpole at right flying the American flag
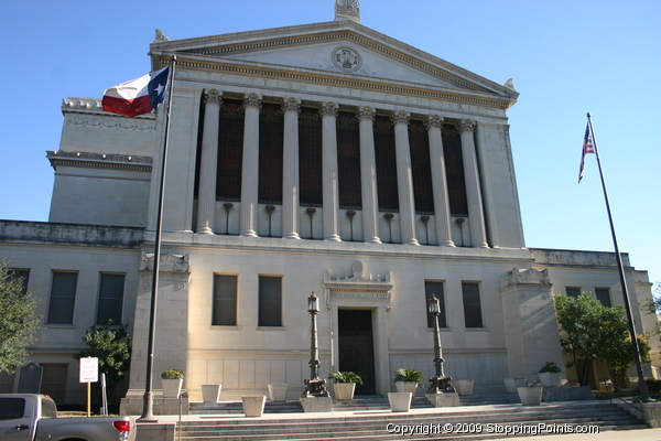
[(592, 115), (587, 112), (587, 123), (589, 125), (589, 132), (595, 149), (595, 155), (597, 157), (597, 165), (599, 168), (599, 175), (602, 178), (602, 187), (604, 189), (604, 198), (606, 200), (606, 211), (608, 212), (608, 222), (610, 223), (610, 234), (613, 235), (613, 245), (615, 246), (615, 255), (617, 258), (617, 269), (619, 271), (620, 283), (622, 287), (622, 295), (625, 298), (625, 309), (627, 311), (627, 321), (629, 322), (629, 334), (631, 334), (631, 344), (633, 345), (633, 354), (636, 358), (636, 369), (638, 370), (638, 388), (640, 390), (640, 400), (648, 402), (650, 400), (647, 383), (642, 376), (642, 362), (640, 358), (640, 348), (638, 347), (638, 338), (636, 336), (636, 329), (633, 327), (633, 315), (631, 314), (631, 302), (629, 300), (629, 290), (627, 289), (627, 281), (625, 279), (625, 267), (622, 265), (622, 257), (617, 246), (617, 237), (615, 235), (615, 226), (613, 224), (613, 215), (610, 214), (610, 204), (608, 203), (608, 192), (606, 191), (606, 181), (604, 180), (604, 172), (602, 171), (602, 161), (599, 159), (599, 149), (597, 148), (597, 139), (595, 138), (595, 130), (592, 125)]

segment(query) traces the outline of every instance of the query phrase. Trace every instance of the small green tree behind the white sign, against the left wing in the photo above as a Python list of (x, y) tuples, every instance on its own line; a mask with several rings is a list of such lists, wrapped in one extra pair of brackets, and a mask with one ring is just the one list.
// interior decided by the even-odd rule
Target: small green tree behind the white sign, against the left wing
[(113, 325), (112, 320), (100, 326), (94, 325), (83, 337), (88, 348), (78, 352), (74, 358), (97, 357), (99, 372), (106, 374), (110, 385), (121, 381), (131, 367), (131, 335), (128, 325)]

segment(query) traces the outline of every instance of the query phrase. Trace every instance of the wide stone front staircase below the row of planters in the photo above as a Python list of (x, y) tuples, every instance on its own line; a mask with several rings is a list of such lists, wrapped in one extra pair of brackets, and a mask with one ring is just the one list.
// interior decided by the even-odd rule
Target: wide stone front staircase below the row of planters
[[(596, 426), (599, 431), (647, 428), (628, 411), (607, 401), (552, 402), (531, 407), (492, 405), (434, 409), (427, 406), (423, 408), (424, 402), (415, 399), (416, 407), (408, 413), (392, 413), (389, 409), (383, 408), (382, 399), (378, 397), (358, 401), (351, 405), (334, 404), (332, 413), (301, 413), (300, 416), (288, 416), (286, 419), (278, 416), (252, 419), (228, 418), (227, 416), (220, 418), (209, 415), (202, 421), (182, 422), (180, 435), (181, 440), (186, 441), (312, 441), (328, 439), (367, 441), (402, 440), (403, 438), (413, 441), (429, 439), (486, 440), (511, 438), (511, 433), (509, 437), (503, 433), (506, 426), (510, 429), (524, 427), (525, 430), (539, 430), (540, 424), (545, 424), (545, 427), (561, 424), (563, 428), (564, 424), (571, 427)], [(236, 405), (240, 409), (241, 405)], [(286, 405), (290, 406), (289, 402)], [(236, 409), (232, 408), (232, 410)], [(452, 427), (452, 433), (444, 429), (447, 424)], [(403, 427), (416, 428), (418, 432), (403, 437), (399, 430)], [(546, 433), (545, 427), (542, 428), (544, 430), (539, 430), (540, 434)], [(466, 429), (465, 433), (457, 433), (458, 429)], [(496, 433), (497, 430), (500, 430), (500, 433)], [(477, 433), (478, 431), (480, 432)]]

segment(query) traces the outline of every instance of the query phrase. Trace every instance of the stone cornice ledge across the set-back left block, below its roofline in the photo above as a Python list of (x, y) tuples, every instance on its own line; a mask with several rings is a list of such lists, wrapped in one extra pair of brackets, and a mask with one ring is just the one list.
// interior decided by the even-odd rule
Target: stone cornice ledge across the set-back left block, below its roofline
[(53, 169), (57, 166), (78, 166), (86, 169), (116, 169), (137, 172), (151, 172), (151, 157), (128, 154), (105, 154), (88, 152), (46, 151), (46, 158)]

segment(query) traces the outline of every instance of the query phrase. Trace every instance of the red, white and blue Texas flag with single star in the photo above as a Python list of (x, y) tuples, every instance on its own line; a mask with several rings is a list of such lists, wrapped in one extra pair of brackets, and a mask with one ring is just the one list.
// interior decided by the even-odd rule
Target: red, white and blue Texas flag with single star
[(104, 110), (137, 117), (149, 114), (165, 100), (170, 66), (131, 79), (104, 92)]

